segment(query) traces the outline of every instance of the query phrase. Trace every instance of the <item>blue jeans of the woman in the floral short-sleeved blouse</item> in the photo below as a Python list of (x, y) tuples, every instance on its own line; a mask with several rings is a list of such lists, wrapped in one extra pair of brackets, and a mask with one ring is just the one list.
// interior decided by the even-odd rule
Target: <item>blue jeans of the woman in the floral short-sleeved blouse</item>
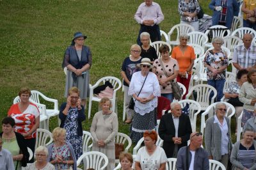
[[(217, 90), (217, 97), (216, 102), (220, 102), (221, 98), (223, 97), (223, 87), (225, 84), (225, 79), (221, 80), (207, 80), (207, 84), (214, 87)], [(213, 91), (210, 94), (210, 100), (213, 97), (214, 93)]]

